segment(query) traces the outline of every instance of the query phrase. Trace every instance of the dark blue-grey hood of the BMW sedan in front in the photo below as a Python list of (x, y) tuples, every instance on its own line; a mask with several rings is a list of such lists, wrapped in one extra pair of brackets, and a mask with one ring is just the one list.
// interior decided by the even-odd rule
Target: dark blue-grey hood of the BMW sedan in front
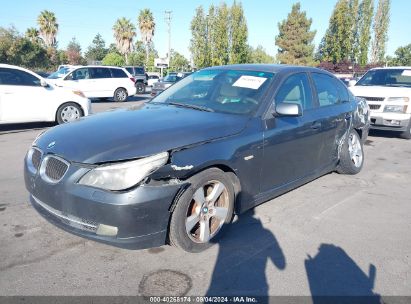
[(147, 103), (56, 126), (35, 145), (69, 161), (104, 163), (234, 135), (248, 120), (247, 116)]

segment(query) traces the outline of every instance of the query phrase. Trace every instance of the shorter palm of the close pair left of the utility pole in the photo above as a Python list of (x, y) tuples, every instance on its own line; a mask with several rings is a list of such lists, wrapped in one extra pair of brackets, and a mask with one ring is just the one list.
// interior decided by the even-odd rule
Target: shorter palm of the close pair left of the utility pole
[(136, 27), (129, 19), (124, 17), (117, 19), (113, 26), (114, 38), (116, 39), (117, 49), (126, 58), (133, 49), (133, 38), (136, 36)]

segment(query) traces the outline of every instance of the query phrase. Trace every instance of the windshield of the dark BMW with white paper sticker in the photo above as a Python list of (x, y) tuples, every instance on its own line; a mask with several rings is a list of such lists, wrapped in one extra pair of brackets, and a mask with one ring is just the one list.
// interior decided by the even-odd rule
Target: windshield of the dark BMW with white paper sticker
[(212, 112), (249, 114), (257, 110), (274, 73), (238, 70), (201, 70), (191, 74), (152, 102)]

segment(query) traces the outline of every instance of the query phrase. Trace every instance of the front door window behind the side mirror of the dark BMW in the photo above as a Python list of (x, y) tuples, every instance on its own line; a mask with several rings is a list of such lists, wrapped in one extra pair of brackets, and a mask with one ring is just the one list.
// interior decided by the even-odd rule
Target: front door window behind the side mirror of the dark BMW
[(298, 73), (288, 77), (278, 90), (275, 102), (299, 104), (303, 110), (313, 108), (311, 88), (307, 74)]

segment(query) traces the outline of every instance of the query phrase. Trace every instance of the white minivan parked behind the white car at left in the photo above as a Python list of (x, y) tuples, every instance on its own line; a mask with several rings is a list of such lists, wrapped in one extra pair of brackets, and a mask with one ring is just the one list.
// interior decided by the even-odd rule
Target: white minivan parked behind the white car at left
[(136, 94), (135, 79), (124, 68), (111, 66), (84, 66), (69, 72), (55, 84), (81, 90), (88, 98), (109, 98), (126, 101)]

